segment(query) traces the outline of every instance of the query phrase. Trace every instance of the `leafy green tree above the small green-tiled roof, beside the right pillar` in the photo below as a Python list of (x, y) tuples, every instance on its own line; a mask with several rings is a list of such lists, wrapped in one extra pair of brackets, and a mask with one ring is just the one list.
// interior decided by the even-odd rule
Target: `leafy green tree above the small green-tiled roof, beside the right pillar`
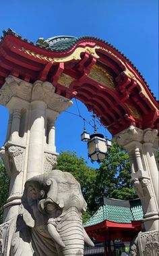
[(108, 149), (108, 155), (96, 170), (98, 197), (135, 199), (137, 195), (131, 182), (129, 156), (117, 143)]

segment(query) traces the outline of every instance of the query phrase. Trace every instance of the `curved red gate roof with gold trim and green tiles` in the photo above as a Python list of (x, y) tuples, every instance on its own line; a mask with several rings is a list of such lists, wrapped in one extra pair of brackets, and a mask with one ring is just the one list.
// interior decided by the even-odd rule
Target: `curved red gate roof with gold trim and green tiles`
[[(113, 45), (92, 36), (53, 36), (37, 43), (10, 28), (0, 41), (0, 89), (13, 76), (51, 82), (82, 101), (113, 135), (133, 125), (158, 128), (158, 101), (137, 68)], [(0, 97), (4, 92), (1, 91)]]

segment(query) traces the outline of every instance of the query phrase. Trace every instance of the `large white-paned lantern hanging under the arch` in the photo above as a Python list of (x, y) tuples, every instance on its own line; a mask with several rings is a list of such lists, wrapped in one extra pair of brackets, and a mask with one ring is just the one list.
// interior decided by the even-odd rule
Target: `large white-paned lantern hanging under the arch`
[(90, 140), (88, 140), (88, 157), (92, 161), (102, 161), (108, 154), (109, 146), (110, 140), (104, 138), (104, 135), (98, 133), (90, 135)]

